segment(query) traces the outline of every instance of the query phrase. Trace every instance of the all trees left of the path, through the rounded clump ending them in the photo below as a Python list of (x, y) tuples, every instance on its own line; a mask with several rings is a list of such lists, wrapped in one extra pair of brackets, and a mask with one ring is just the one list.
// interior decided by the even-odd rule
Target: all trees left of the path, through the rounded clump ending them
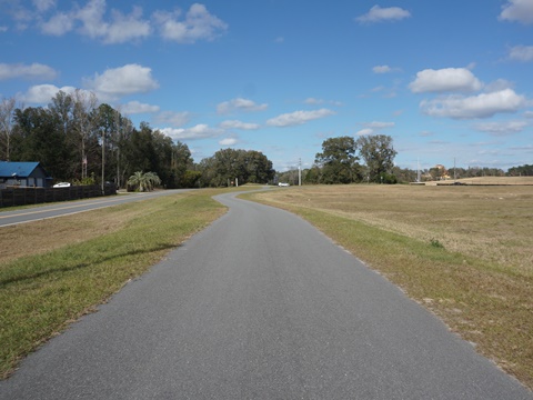
[(224, 149), (197, 164), (185, 143), (147, 122), (134, 127), (120, 110), (82, 90), (59, 91), (46, 108), (17, 108), (14, 98), (3, 99), (0, 160), (39, 161), (56, 181), (118, 188), (128, 181), (150, 188), (140, 179), (144, 173), (165, 188), (219, 187), (235, 179), (266, 183), (275, 173), (259, 151)]

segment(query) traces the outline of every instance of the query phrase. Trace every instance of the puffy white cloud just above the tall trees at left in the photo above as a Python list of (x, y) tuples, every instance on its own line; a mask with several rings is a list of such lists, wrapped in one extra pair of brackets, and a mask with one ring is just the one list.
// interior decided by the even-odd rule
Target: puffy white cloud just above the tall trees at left
[(139, 64), (127, 64), (105, 70), (102, 74), (83, 80), (102, 100), (115, 99), (125, 94), (145, 93), (159, 88), (152, 78), (152, 70)]

